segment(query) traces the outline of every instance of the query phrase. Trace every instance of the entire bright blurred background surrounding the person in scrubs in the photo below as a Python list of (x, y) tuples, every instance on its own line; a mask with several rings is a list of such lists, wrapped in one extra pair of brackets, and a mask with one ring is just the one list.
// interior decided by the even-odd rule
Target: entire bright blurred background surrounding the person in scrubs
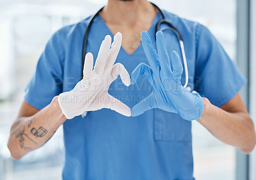
[[(0, 180), (61, 179), (62, 127), (42, 148), (13, 160), (6, 146), (38, 57), (47, 40), (62, 26), (79, 22), (106, 0), (0, 1)], [(237, 63), (248, 84), (241, 92), (252, 116), (255, 61), (254, 0), (152, 1), (164, 10), (207, 26)], [(253, 33), (254, 32), (254, 33)], [(254, 50), (253, 50), (254, 49)], [(250, 86), (249, 86), (250, 85)], [(227, 146), (193, 122), (195, 178), (198, 180), (256, 179), (255, 152), (251, 156)], [(253, 171), (254, 170), (254, 171)]]

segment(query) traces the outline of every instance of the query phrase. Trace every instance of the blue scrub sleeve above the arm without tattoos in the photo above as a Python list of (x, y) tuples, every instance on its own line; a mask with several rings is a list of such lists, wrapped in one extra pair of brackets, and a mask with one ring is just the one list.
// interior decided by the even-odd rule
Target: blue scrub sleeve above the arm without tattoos
[(195, 90), (220, 107), (239, 93), (246, 79), (206, 27), (196, 33)]

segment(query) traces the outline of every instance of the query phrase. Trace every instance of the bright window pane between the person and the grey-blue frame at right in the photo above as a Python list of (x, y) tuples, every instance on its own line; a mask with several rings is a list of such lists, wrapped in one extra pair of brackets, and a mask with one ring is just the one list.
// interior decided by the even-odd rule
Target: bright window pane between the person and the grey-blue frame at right
[[(207, 26), (231, 59), (236, 60), (236, 1), (155, 2), (180, 17)], [(235, 179), (236, 149), (213, 137), (197, 121), (193, 121), (192, 131), (195, 178), (197, 180)]]

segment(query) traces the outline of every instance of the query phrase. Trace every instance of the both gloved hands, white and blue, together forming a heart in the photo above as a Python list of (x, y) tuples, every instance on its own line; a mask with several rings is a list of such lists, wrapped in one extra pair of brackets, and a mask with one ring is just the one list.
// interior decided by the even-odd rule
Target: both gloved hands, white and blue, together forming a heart
[[(188, 121), (201, 116), (204, 101), (199, 94), (190, 93), (180, 84), (183, 72), (180, 57), (177, 52), (172, 51), (171, 68), (163, 33), (158, 31), (156, 34), (158, 54), (146, 31), (141, 33), (141, 41), (150, 66), (145, 63), (139, 64), (132, 71), (131, 82), (124, 65), (114, 64), (122, 43), (121, 33), (116, 33), (112, 45), (111, 37), (109, 35), (105, 37), (100, 45), (94, 68), (92, 54), (86, 54), (83, 79), (74, 89), (58, 96), (61, 110), (67, 119), (79, 116), (84, 111), (103, 108), (115, 110), (124, 116), (139, 116), (154, 108), (180, 114)], [(131, 110), (108, 93), (110, 84), (118, 75), (125, 86), (135, 84), (143, 75), (152, 85), (152, 93)]]

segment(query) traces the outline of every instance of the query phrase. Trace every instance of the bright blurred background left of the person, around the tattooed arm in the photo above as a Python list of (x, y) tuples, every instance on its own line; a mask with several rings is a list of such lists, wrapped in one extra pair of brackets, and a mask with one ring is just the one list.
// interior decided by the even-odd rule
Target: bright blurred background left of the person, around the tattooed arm
[(0, 3), (0, 180), (61, 179), (61, 127), (45, 146), (21, 160), (12, 160), (6, 147), (24, 89), (47, 40), (60, 27), (79, 22), (102, 6), (84, 1), (54, 3)]

